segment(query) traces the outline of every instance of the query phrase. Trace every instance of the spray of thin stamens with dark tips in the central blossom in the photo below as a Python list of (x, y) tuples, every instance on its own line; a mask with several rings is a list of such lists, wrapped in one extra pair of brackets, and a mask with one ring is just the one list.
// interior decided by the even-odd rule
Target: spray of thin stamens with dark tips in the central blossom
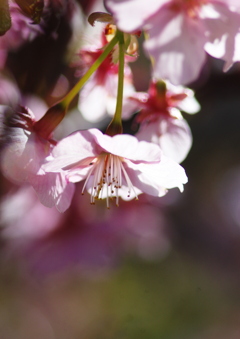
[(116, 197), (116, 205), (119, 205), (119, 189), (122, 185), (127, 186), (127, 196), (130, 197), (131, 192), (137, 199), (137, 194), (133, 184), (123, 165), (124, 159), (113, 154), (102, 153), (91, 162), (92, 168), (88, 173), (84, 183), (82, 193), (92, 177), (91, 182), (91, 204), (95, 204), (96, 199), (107, 200), (107, 208), (109, 208), (109, 198)]

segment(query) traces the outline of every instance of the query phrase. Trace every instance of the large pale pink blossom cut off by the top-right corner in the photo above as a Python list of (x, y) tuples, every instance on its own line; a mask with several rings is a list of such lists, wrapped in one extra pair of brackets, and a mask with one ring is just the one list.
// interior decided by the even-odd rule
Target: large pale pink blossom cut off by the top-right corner
[(225, 69), (240, 59), (240, 13), (232, 6), (236, 1), (105, 0), (105, 4), (120, 30), (147, 30), (145, 48), (154, 59), (156, 78), (176, 85), (192, 82), (206, 61), (205, 51), (225, 60)]

